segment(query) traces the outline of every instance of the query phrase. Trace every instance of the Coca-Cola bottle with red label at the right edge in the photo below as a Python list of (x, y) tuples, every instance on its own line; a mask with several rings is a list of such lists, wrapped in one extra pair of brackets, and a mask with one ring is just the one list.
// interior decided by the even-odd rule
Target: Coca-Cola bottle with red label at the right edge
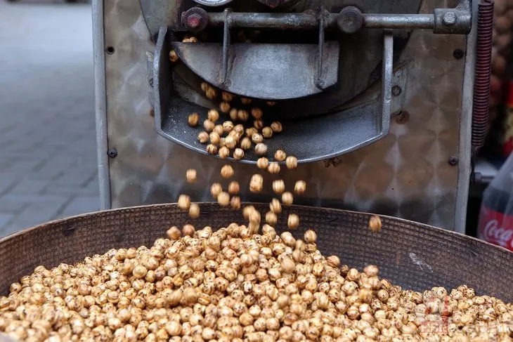
[(478, 236), (513, 251), (513, 154), (484, 191)]

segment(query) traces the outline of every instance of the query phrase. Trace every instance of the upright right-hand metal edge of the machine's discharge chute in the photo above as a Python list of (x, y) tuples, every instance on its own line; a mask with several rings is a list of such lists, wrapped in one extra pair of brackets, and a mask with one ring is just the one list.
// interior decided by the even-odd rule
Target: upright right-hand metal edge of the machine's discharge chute
[(382, 67), (382, 122), (381, 129), (387, 134), (390, 127), (390, 114), (392, 110), (392, 74), (394, 71), (394, 34), (391, 30), (384, 32), (383, 38), (383, 67)]

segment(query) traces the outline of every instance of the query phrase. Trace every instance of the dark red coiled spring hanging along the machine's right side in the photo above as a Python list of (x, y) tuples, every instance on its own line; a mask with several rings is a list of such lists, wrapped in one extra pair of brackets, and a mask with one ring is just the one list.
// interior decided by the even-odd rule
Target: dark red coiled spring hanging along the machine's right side
[(477, 19), (476, 72), (472, 110), (472, 146), (483, 146), (490, 106), (490, 76), (493, 39), (493, 0), (479, 4)]

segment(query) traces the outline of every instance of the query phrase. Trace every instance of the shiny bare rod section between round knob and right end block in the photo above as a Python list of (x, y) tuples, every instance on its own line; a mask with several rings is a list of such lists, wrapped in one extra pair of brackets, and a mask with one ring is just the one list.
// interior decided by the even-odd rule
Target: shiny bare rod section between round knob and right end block
[(363, 27), (368, 29), (433, 29), (432, 14), (366, 14)]

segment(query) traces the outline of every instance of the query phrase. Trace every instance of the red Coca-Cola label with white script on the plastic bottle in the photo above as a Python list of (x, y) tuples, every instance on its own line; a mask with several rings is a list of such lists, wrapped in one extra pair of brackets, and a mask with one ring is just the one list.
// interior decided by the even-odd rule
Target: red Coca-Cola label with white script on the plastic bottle
[(481, 206), (478, 235), (479, 239), (513, 251), (513, 215)]

